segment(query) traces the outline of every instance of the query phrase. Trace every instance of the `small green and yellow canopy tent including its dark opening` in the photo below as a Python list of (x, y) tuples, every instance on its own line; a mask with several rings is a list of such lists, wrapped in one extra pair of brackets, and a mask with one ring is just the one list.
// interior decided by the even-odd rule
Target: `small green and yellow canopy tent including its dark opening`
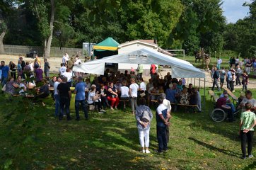
[(97, 56), (97, 58), (100, 59), (110, 55), (117, 55), (118, 45), (119, 43), (113, 38), (106, 38), (93, 46), (93, 56)]

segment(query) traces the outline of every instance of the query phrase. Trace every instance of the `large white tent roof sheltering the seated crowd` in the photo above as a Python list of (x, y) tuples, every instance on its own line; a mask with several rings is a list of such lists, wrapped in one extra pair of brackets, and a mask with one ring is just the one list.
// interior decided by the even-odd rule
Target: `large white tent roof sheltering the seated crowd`
[(104, 74), (105, 63), (127, 63), (127, 64), (159, 64), (170, 65), (173, 77), (184, 78), (205, 78), (204, 72), (194, 67), (190, 62), (170, 57), (161, 52), (145, 47), (141, 50), (135, 50), (120, 55), (104, 57), (100, 60), (85, 62), (73, 67), (74, 72), (85, 72), (91, 74)]

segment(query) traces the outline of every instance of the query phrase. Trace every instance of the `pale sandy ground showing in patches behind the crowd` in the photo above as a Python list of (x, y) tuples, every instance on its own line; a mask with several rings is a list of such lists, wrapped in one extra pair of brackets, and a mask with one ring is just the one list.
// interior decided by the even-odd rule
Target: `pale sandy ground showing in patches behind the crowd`
[[(6, 62), (6, 64), (8, 64), (10, 61), (14, 62), (15, 64), (18, 63), (18, 55), (0, 55), (0, 60), (4, 60)], [(32, 58), (27, 58), (27, 57), (23, 57), (23, 60), (25, 62), (33, 62), (34, 60)], [(42, 62), (42, 69), (44, 67), (44, 64), (43, 64), (43, 58), (40, 57), (40, 60)], [(48, 59), (48, 62), (50, 63), (50, 72), (52, 73), (57, 73), (59, 72), (59, 67), (60, 67), (60, 63), (62, 63), (62, 57), (51, 57), (50, 59)], [(170, 72), (170, 69), (163, 69), (163, 71), (161, 72), (161, 77), (164, 77), (167, 72)], [(206, 74), (206, 82), (205, 82), (205, 85), (207, 87), (209, 86), (212, 86), (212, 82), (213, 80), (211, 79), (211, 74), (209, 71), (204, 71), (205, 74)], [(144, 75), (144, 79), (147, 81), (149, 80), (149, 75)], [(204, 86), (204, 79), (198, 79), (198, 78), (187, 78), (186, 79), (186, 84), (195, 84), (195, 86)], [(224, 84), (224, 86), (226, 86), (226, 82)], [(235, 89), (236, 88), (242, 88), (242, 86), (235, 86)], [(248, 89), (252, 89), (252, 88), (256, 88), (256, 80), (255, 79), (250, 79), (250, 83), (248, 84)]]

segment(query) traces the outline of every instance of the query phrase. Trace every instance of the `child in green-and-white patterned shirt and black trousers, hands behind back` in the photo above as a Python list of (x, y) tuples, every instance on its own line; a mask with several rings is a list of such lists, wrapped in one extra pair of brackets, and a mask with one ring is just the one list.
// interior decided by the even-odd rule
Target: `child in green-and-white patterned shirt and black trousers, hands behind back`
[(246, 111), (240, 116), (240, 137), (241, 137), (241, 148), (242, 148), (242, 159), (246, 159), (246, 142), (248, 141), (248, 157), (252, 158), (252, 141), (253, 141), (253, 127), (256, 125), (255, 113), (252, 113), (251, 103), (245, 103)]

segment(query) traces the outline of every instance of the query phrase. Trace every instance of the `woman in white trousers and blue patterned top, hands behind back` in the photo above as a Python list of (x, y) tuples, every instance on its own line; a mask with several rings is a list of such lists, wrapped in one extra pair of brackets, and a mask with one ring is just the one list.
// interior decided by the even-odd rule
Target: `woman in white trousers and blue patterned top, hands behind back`
[[(149, 122), (145, 122), (142, 118), (145, 114), (149, 114)], [(146, 106), (146, 99), (139, 98), (139, 106), (136, 108), (135, 117), (137, 120), (137, 128), (139, 131), (139, 143), (141, 145), (141, 152), (149, 154), (149, 130), (150, 123), (153, 118), (151, 109)]]

